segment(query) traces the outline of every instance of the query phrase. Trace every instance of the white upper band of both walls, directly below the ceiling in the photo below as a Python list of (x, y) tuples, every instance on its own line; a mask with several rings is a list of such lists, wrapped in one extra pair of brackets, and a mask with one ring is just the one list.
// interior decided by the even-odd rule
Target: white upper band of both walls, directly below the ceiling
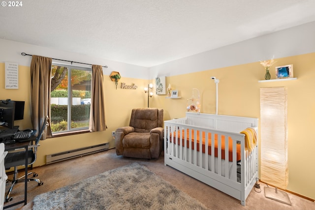
[(150, 68), (0, 39), (0, 62), (18, 62), (19, 65), (30, 66), (32, 57), (21, 56), (21, 53), (25, 52), (55, 59), (107, 65), (108, 68), (103, 68), (104, 75), (119, 71), (123, 77), (154, 79), (156, 76), (173, 76), (269, 60), (273, 57), (283, 58), (312, 53), (315, 52), (314, 37), (315, 22), (311, 22)]

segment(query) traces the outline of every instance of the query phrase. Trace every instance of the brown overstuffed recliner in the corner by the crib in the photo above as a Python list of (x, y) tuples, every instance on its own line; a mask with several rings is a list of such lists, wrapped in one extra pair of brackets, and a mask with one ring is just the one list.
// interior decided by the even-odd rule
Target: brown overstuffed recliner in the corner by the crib
[(132, 109), (129, 126), (116, 129), (116, 154), (158, 158), (163, 149), (163, 133), (163, 109)]

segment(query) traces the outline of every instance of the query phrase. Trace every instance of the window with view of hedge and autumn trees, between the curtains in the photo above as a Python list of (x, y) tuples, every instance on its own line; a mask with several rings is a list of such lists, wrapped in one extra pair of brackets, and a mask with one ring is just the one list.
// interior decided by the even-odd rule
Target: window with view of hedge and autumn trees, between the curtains
[(91, 68), (52, 64), (50, 103), (53, 133), (89, 128), (91, 79)]

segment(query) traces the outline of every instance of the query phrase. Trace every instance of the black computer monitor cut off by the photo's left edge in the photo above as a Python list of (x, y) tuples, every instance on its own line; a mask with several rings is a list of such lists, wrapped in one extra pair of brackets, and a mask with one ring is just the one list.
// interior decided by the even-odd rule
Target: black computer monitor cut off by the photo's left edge
[(8, 129), (14, 129), (14, 101), (0, 101), (0, 125)]

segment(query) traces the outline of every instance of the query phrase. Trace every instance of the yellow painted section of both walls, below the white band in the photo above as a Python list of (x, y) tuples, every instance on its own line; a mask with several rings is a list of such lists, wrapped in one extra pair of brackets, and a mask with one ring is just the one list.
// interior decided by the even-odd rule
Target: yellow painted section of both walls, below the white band
[[(220, 79), (219, 83), (219, 114), (260, 118), (259, 89), (264, 87), (287, 87), (288, 95), (288, 162), (289, 184), (287, 189), (297, 194), (315, 199), (315, 176), (313, 148), (315, 141), (312, 130), (315, 127), (315, 53), (286, 58), (276, 58), (275, 66), (293, 64), (294, 77), (297, 80), (258, 83), (264, 79), (264, 68), (259, 62), (229, 66), (219, 69), (209, 69), (195, 73), (171, 76), (166, 78), (166, 85), (172, 84), (173, 90), (179, 90), (179, 99), (165, 98), (166, 95), (156, 95), (150, 98), (150, 107), (164, 109), (164, 120), (185, 116), (187, 99), (192, 96), (192, 88), (200, 91), (201, 112), (216, 112), (216, 85), (211, 76)], [(0, 75), (4, 75), (4, 63), (0, 63)], [(19, 90), (5, 90), (4, 78), (0, 77), (0, 98), (25, 100), (25, 119), (17, 121), (22, 128), (31, 123), (30, 113), (30, 67), (19, 66)], [(275, 71), (271, 70), (272, 79)], [(115, 83), (104, 75), (106, 123), (108, 129), (94, 132), (52, 138), (41, 141), (38, 159), (35, 166), (45, 164), (46, 154), (72, 150), (104, 142), (110, 142), (114, 147), (111, 131), (129, 123), (132, 108), (147, 107), (147, 95), (143, 88), (149, 82), (143, 79), (125, 78), (119, 81), (126, 84), (135, 83), (137, 90), (115, 89)], [(2, 85), (3, 84), (3, 85)], [(155, 91), (155, 90), (154, 90)]]

